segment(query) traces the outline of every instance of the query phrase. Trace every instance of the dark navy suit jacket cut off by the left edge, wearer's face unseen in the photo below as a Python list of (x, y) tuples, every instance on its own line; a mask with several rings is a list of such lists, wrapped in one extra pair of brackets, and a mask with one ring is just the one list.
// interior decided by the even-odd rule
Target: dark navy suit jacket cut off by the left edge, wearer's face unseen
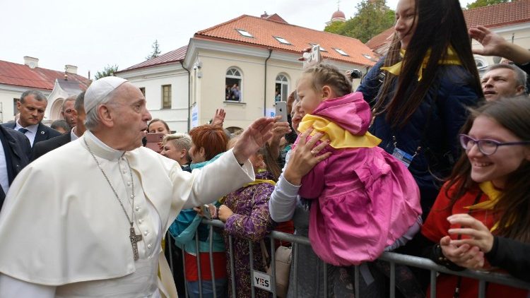
[(28, 138), (13, 129), (0, 126), (0, 209), (16, 175), (29, 163), (31, 145)]

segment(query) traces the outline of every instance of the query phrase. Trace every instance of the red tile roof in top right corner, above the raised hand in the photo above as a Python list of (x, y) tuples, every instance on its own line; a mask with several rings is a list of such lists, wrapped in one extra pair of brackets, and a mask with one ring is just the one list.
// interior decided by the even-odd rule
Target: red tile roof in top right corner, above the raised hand
[(464, 11), (468, 28), (483, 25), (496, 28), (530, 22), (530, 0), (516, 0)]

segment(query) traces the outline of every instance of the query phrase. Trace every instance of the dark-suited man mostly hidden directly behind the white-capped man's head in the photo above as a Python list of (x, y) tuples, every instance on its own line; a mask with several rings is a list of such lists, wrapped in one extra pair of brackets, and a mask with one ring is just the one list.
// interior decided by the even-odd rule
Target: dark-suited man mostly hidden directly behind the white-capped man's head
[(46, 153), (49, 153), (49, 151), (57, 149), (62, 145), (65, 145), (66, 143), (69, 143), (71, 141), (75, 141), (81, 136), (83, 136), (83, 133), (85, 133), (86, 131), (84, 124), (86, 119), (84, 102), (85, 93), (79, 93), (79, 95), (77, 95), (76, 102), (73, 105), (73, 108), (75, 109), (73, 115), (74, 117), (76, 117), (76, 126), (73, 126), (73, 129), (71, 129), (70, 133), (64, 133), (61, 136), (57, 136), (55, 138), (50, 138), (49, 140), (42, 141), (40, 143), (36, 143), (35, 146), (33, 146), (32, 150), (32, 161), (36, 160), (42, 155), (45, 155)]

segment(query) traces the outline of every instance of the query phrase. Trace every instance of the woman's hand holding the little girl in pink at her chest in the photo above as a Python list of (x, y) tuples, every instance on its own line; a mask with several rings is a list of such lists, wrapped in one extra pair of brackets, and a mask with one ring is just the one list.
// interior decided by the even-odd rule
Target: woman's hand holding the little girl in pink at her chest
[(315, 133), (310, 141), (306, 143), (305, 140), (312, 131), (313, 129), (310, 128), (300, 135), (298, 145), (296, 145), (295, 150), (290, 154), (289, 163), (287, 168), (285, 168), (285, 172), (283, 172), (283, 177), (289, 181), (290, 184), (300, 185), (302, 177), (304, 177), (305, 174), (309, 173), (317, 163), (322, 162), (322, 160), (325, 160), (331, 155), (331, 152), (319, 155), (319, 152), (329, 144), (329, 141), (326, 140), (319, 145), (314, 145), (320, 138), (322, 138), (322, 136), (324, 136), (323, 133)]

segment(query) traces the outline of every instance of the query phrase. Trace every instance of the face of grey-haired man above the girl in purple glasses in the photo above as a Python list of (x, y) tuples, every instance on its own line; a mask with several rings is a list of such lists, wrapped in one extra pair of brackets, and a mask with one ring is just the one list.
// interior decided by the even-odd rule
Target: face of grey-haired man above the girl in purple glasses
[(517, 85), (514, 71), (508, 68), (495, 68), (484, 73), (481, 82), (485, 100), (488, 102), (500, 97), (521, 95), (524, 92), (524, 86)]

